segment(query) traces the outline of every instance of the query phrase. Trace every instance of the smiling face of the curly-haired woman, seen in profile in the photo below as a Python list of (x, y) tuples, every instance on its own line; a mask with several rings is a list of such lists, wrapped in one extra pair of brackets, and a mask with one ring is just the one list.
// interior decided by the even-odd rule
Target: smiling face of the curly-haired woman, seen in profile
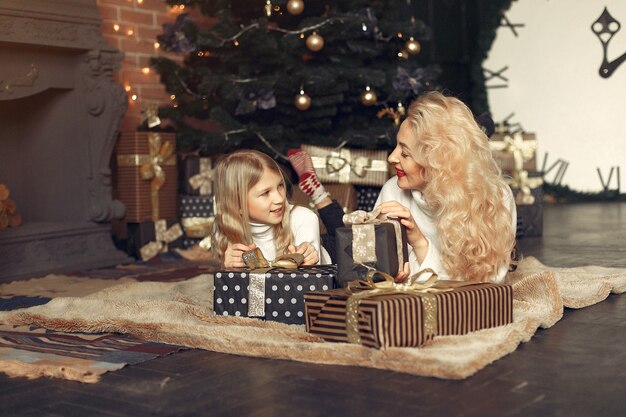
[(421, 190), (424, 186), (424, 168), (413, 159), (413, 149), (416, 148), (417, 138), (408, 120), (400, 125), (396, 139), (396, 147), (387, 161), (396, 169), (398, 187), (403, 190)]

